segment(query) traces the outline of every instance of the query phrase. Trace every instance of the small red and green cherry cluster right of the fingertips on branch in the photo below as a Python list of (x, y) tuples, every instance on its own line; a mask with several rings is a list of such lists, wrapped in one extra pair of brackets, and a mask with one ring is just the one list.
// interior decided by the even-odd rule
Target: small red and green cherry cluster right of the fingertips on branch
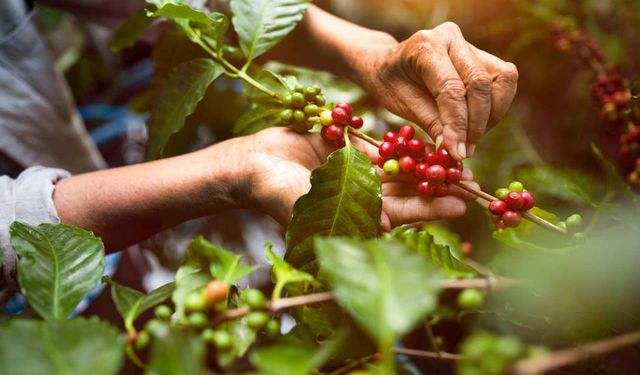
[(497, 229), (517, 227), (522, 221), (521, 214), (535, 205), (533, 194), (526, 191), (520, 181), (496, 190), (496, 198), (489, 202), (489, 212), (494, 215)]

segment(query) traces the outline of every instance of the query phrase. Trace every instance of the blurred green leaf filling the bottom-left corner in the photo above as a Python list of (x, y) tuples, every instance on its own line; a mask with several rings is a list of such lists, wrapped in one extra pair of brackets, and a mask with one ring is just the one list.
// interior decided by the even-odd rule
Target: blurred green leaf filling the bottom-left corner
[(124, 340), (97, 319), (14, 319), (0, 326), (0, 373), (117, 374)]

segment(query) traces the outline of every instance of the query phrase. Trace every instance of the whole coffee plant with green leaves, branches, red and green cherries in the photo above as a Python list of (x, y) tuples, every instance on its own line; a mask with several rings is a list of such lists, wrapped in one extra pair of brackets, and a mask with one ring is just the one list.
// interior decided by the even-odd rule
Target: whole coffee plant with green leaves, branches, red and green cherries
[[(629, 81), (602, 67), (597, 46), (553, 26), (558, 48), (577, 51), (597, 70), (593, 92), (603, 118), (627, 129), (624, 178), (593, 146), (603, 176), (598, 192), (577, 179), (547, 181), (555, 198), (579, 201), (586, 217), (562, 219), (536, 206), (535, 184), (505, 181), (493, 195), (471, 187), (463, 163), (411, 124), (381, 140), (363, 132), (366, 106), (340, 98), (339, 84), (302, 84), (302, 76), (323, 76), (257, 65), (309, 3), (232, 0), (229, 18), (147, 0), (113, 43), (131, 46), (154, 20), (171, 21), (154, 52), (149, 160), (176, 152), (188, 118), (222, 76), (241, 82), (247, 103), (235, 134), (284, 126), (335, 148), (294, 205), (284, 258), (265, 245), (272, 285), (240, 287), (256, 267), (197, 237), (175, 280), (144, 293), (103, 277), (105, 249), (92, 233), (14, 222), (11, 244), (29, 310), (2, 316), (0, 373), (393, 374), (415, 373), (418, 364), (432, 373), (535, 374), (640, 342), (640, 198), (626, 183), (637, 185), (640, 173), (639, 107)], [(237, 45), (226, 36), (230, 28)], [(172, 49), (189, 52), (166, 58)], [(280, 74), (287, 70), (298, 77)], [(358, 150), (355, 138), (376, 146), (379, 159)], [(381, 175), (412, 181), (422, 199), (452, 189), (475, 195), (484, 210), (475, 226), (492, 230), (495, 259), (472, 260), (475, 246), (439, 224), (381, 232)], [(69, 318), (100, 280), (123, 332), (95, 317)]]

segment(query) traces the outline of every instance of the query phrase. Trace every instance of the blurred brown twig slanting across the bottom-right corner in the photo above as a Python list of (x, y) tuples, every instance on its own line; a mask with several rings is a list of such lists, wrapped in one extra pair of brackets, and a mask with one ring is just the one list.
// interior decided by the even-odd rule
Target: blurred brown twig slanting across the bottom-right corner
[(640, 343), (640, 331), (560, 350), (540, 358), (521, 360), (512, 367), (511, 373), (514, 375), (541, 374), (637, 343)]

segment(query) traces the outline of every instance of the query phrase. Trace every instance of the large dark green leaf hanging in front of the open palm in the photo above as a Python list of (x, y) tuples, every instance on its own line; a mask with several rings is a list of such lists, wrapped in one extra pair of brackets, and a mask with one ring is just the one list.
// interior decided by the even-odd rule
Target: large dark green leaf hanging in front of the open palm
[(347, 144), (313, 171), (311, 190), (293, 206), (285, 260), (314, 274), (314, 236), (375, 238), (381, 211), (380, 176), (363, 153)]

